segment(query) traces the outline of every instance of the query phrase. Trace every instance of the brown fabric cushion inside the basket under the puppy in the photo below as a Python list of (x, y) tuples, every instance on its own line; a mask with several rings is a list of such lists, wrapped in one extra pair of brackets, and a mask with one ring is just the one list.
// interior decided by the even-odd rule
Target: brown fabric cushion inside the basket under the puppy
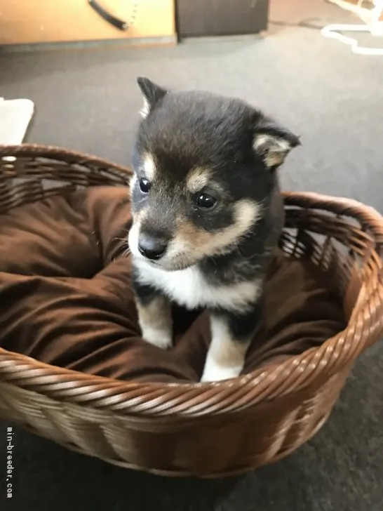
[[(123, 188), (52, 197), (0, 217), (0, 346), (55, 366), (145, 381), (199, 380), (206, 312), (174, 309), (168, 352), (140, 338)], [(344, 328), (342, 300), (317, 268), (278, 253), (264, 328), (245, 372), (317, 346)]]

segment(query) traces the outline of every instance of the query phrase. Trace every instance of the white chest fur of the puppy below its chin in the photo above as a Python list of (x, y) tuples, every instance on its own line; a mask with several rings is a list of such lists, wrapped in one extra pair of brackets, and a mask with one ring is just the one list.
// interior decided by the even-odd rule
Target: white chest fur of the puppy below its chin
[(260, 281), (245, 281), (231, 285), (208, 283), (198, 267), (167, 272), (142, 260), (135, 260), (138, 279), (162, 291), (187, 309), (197, 307), (222, 307), (239, 311), (253, 303), (260, 295)]

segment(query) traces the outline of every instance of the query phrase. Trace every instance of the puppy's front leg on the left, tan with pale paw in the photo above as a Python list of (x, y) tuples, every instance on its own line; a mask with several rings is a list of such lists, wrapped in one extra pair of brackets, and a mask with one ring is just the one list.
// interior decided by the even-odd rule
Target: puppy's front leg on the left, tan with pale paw
[(173, 338), (170, 301), (150, 286), (137, 281), (133, 281), (133, 284), (142, 338), (147, 343), (167, 350)]

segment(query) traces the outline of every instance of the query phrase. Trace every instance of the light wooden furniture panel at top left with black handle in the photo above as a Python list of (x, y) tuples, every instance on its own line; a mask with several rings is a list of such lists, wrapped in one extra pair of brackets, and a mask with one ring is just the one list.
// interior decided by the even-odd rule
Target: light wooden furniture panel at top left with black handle
[(121, 39), (175, 41), (173, 0), (99, 0), (109, 13), (126, 20), (119, 30), (88, 0), (1, 0), (0, 45)]

